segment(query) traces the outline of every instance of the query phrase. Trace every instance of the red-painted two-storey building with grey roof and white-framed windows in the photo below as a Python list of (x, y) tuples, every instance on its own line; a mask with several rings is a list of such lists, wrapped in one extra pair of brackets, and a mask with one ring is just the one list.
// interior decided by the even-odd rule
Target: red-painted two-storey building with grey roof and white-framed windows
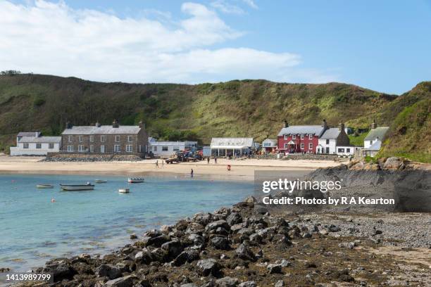
[(326, 120), (322, 125), (290, 126), (285, 121), (277, 136), (278, 151), (282, 153), (316, 153), (319, 138), (328, 129)]

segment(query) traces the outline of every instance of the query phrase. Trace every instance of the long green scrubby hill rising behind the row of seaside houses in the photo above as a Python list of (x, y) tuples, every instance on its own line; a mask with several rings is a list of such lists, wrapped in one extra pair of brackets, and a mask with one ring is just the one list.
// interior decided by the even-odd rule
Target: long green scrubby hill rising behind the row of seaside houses
[[(285, 84), (265, 80), (218, 84), (125, 84), (90, 82), (49, 75), (0, 76), (0, 142), (13, 143), (19, 131), (60, 134), (66, 120), (89, 125), (114, 118), (123, 125), (143, 120), (152, 136), (199, 139), (254, 136), (258, 141), (290, 125), (366, 127), (377, 116), (391, 124), (420, 96), (382, 94), (350, 84)], [(419, 123), (418, 123), (419, 124)], [(388, 151), (391, 151), (388, 149)]]

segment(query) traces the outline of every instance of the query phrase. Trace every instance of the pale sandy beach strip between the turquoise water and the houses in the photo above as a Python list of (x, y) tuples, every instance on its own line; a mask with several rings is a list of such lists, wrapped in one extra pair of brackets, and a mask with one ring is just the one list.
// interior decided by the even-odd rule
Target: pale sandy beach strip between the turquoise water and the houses
[[(333, 167), (340, 162), (328, 160), (225, 160), (218, 159), (208, 164), (200, 162), (182, 162), (180, 164), (161, 164), (158, 160), (140, 162), (41, 162), (41, 157), (8, 157), (0, 156), (0, 173), (18, 174), (182, 174), (194, 170), (194, 177), (211, 177), (214, 179), (254, 179), (255, 170), (316, 170), (320, 167)], [(231, 170), (227, 170), (231, 165)]]

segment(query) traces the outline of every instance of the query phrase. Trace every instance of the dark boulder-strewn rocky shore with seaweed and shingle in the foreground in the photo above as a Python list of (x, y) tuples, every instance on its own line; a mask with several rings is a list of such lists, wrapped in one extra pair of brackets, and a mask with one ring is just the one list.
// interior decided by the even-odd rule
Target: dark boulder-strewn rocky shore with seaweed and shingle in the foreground
[[(423, 191), (413, 196), (430, 196), (427, 174), (351, 169), (356, 164), (308, 177), (342, 177), (343, 192), (354, 195), (390, 196), (405, 183)], [(431, 286), (431, 213), (403, 208), (282, 208), (250, 196), (132, 234), (108, 255), (51, 260), (34, 272), (52, 272), (54, 283), (21, 286)]]

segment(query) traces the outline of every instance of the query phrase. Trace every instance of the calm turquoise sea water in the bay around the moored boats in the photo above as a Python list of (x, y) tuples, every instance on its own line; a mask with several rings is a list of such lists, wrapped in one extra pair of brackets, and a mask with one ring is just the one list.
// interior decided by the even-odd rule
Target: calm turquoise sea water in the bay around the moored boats
[[(61, 191), (58, 184), (94, 179), (94, 191)], [(27, 270), (51, 257), (106, 253), (129, 243), (130, 233), (172, 224), (200, 211), (231, 205), (251, 194), (252, 182), (180, 177), (0, 175), (0, 267)], [(36, 189), (36, 184), (54, 189)], [(129, 187), (129, 194), (118, 189)], [(51, 203), (51, 198), (56, 202)]]

